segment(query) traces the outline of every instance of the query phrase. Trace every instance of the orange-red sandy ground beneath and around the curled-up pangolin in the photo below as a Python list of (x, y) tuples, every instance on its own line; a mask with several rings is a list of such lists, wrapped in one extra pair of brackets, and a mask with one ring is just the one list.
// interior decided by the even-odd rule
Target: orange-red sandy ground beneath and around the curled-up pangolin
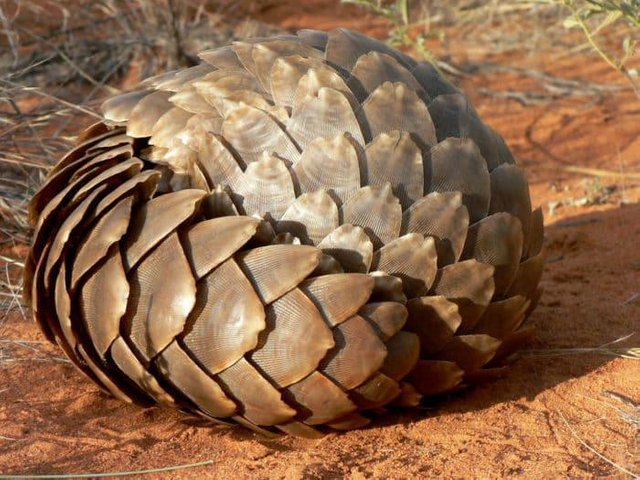
[[(285, 3), (254, 13), (285, 28), (346, 25), (383, 35), (380, 21), (335, 3), (309, 2), (296, 11)], [(499, 62), (620, 83), (597, 58), (566, 49), (491, 55), (475, 48), (473, 39), (465, 42), (449, 52), (457, 63)], [(212, 463), (152, 477), (540, 479), (640, 473), (640, 362), (597, 348), (633, 333), (608, 348), (640, 343), (640, 182), (566, 169), (638, 172), (640, 101), (623, 91), (525, 106), (483, 94), (487, 88), (536, 87), (531, 78), (499, 71), (470, 76), (462, 86), (526, 165), (533, 203), (543, 205), (546, 216), (545, 295), (530, 319), (538, 334), (505, 378), (421, 411), (394, 412), (364, 430), (319, 441), (268, 440), (105, 396), (57, 361), (62, 353), (53, 346), (25, 343), (43, 337), (14, 312), (0, 332), (13, 342), (4, 350), (11, 355), (0, 358), (0, 475), (118, 472), (201, 461)], [(8, 253), (21, 257), (26, 249)]]

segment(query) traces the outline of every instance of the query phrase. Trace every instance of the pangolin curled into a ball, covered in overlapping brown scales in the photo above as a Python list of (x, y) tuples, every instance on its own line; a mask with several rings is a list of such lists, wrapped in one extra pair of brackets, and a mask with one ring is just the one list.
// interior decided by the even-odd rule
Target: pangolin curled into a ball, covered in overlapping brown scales
[(467, 98), (342, 29), (200, 58), (105, 102), (33, 198), (47, 338), (126, 402), (310, 437), (500, 375), (542, 213)]

